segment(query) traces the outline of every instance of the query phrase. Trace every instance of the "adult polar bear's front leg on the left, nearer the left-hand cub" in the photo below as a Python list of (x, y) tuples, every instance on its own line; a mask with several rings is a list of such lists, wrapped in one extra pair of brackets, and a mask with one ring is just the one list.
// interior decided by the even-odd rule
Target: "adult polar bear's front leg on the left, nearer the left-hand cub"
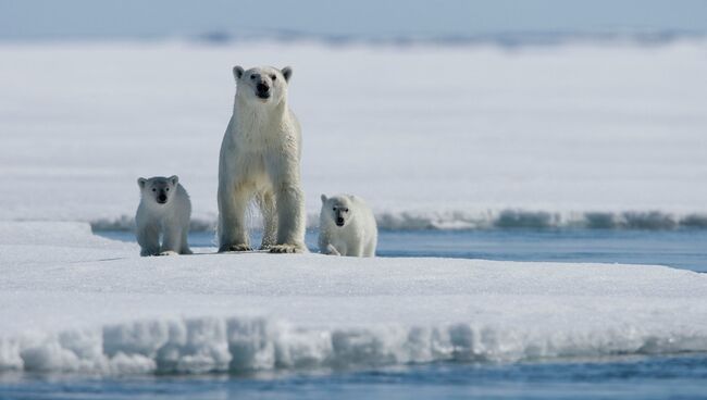
[(246, 234), (249, 193), (244, 186), (219, 185), (219, 252), (251, 251)]

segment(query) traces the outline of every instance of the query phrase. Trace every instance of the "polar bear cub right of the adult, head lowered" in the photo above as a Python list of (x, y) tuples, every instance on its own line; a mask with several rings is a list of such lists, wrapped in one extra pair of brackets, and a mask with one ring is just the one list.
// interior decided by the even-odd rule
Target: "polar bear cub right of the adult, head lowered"
[(319, 250), (324, 254), (374, 257), (379, 229), (363, 199), (351, 195), (322, 195)]

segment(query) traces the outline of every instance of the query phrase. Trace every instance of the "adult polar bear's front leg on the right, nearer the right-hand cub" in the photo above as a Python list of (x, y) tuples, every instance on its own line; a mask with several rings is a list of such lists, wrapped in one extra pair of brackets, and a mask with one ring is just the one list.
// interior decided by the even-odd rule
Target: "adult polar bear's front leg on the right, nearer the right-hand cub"
[(293, 184), (276, 185), (277, 245), (270, 248), (273, 253), (303, 253), (305, 246), (305, 196)]

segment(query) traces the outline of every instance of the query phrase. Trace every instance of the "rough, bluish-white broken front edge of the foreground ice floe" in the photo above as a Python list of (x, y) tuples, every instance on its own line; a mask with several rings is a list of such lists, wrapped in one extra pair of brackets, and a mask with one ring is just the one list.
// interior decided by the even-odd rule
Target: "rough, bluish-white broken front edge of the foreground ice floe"
[(707, 330), (625, 325), (546, 333), (470, 323), (327, 329), (266, 317), (193, 317), (0, 337), (0, 371), (245, 372), (693, 351), (707, 351)]

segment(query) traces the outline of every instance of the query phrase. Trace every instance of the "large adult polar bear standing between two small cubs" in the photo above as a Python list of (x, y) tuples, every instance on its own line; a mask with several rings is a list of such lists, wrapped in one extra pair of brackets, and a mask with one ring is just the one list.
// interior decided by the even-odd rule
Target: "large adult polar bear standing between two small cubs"
[(246, 210), (252, 199), (263, 222), (262, 249), (306, 252), (300, 187), (301, 134), (287, 105), (293, 70), (233, 68), (236, 98), (219, 159), (219, 251), (248, 251)]

